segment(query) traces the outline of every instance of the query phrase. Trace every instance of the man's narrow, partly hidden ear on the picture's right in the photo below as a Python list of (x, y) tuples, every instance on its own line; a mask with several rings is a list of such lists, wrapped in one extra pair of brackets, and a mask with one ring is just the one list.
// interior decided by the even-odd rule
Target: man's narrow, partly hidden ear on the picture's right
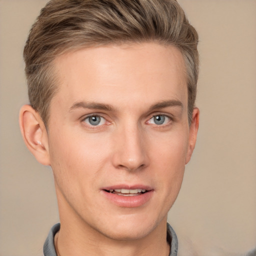
[(199, 109), (195, 107), (193, 109), (192, 120), (189, 126), (188, 146), (186, 151), (185, 164), (189, 162), (192, 152), (194, 150), (198, 127), (199, 127)]

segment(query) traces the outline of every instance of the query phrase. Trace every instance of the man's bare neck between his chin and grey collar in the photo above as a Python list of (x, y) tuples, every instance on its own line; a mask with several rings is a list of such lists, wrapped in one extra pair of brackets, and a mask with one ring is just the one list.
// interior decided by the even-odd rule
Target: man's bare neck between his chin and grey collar
[[(116, 240), (91, 230), (83, 225), (65, 225), (61, 221), (59, 232), (54, 237), (57, 256), (168, 256), (166, 241), (166, 219), (149, 234), (139, 239)], [(86, 227), (85, 227), (86, 226)]]

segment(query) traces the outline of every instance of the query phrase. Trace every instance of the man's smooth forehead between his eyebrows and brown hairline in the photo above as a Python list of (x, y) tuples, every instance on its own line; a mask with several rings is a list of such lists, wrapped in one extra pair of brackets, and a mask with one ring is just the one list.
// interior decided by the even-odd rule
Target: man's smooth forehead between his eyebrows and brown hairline
[(54, 65), (59, 89), (53, 101), (58, 104), (70, 106), (84, 100), (143, 104), (170, 97), (182, 101), (187, 98), (183, 57), (171, 45), (134, 43), (83, 48), (58, 56)]

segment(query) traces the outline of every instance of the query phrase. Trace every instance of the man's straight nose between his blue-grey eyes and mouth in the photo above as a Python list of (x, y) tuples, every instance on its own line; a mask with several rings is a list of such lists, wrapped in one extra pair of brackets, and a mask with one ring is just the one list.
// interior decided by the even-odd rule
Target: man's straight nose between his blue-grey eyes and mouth
[(145, 136), (137, 125), (120, 128), (114, 141), (112, 161), (116, 168), (134, 171), (148, 165)]

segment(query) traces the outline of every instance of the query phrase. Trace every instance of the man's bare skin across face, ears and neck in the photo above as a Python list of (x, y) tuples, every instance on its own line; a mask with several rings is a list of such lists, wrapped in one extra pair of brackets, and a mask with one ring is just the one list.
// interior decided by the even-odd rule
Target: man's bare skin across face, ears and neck
[[(53, 170), (58, 254), (168, 255), (167, 212), (199, 121), (194, 108), (188, 124), (180, 51), (157, 43), (108, 45), (63, 54), (54, 64), (59, 89), (47, 130), (29, 105), (20, 110), (20, 127), (29, 150)], [(98, 125), (90, 115), (100, 116)], [(117, 205), (102, 190), (117, 184), (145, 185), (150, 198)]]

